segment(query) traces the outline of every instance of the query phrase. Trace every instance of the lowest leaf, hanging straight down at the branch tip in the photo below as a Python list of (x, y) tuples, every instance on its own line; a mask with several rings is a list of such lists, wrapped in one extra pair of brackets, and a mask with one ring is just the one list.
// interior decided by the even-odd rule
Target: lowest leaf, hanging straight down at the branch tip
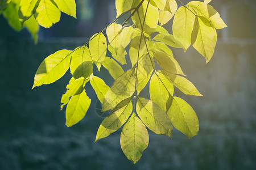
[(123, 153), (133, 164), (141, 159), (142, 152), (149, 142), (148, 132), (143, 122), (133, 113), (126, 124), (120, 137), (120, 145)]

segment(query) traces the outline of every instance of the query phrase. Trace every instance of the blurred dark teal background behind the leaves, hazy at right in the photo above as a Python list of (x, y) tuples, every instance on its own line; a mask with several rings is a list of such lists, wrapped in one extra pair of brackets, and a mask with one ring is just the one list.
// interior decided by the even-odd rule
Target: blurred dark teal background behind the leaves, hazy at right
[[(174, 129), (170, 139), (150, 132), (149, 145), (135, 165), (121, 150), (121, 130), (93, 143), (104, 117), (97, 113), (98, 99), (89, 84), (86, 93), (92, 104), (71, 128), (60, 111), (69, 71), (55, 83), (31, 90), (44, 58), (75, 49), (115, 19), (114, 0), (76, 4), (77, 19), (62, 13), (59, 23), (40, 28), (38, 44), (26, 29), (15, 32), (0, 16), (0, 169), (256, 169), (255, 0), (210, 2), (228, 27), (217, 31), (207, 65), (192, 47), (185, 54), (173, 49), (187, 78), (204, 95), (175, 92), (197, 113), (199, 134), (188, 139)], [(170, 33), (171, 23), (164, 26)], [(108, 85), (113, 82), (104, 69), (95, 74)]]

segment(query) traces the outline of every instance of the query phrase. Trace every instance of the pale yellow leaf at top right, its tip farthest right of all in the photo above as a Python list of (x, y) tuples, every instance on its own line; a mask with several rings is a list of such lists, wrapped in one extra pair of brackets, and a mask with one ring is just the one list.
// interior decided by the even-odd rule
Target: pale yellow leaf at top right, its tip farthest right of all
[(191, 1), (187, 4), (191, 6), (197, 16), (203, 16), (210, 22), (210, 26), (216, 29), (227, 27), (224, 21), (220, 18), (220, 14), (212, 6), (200, 1)]

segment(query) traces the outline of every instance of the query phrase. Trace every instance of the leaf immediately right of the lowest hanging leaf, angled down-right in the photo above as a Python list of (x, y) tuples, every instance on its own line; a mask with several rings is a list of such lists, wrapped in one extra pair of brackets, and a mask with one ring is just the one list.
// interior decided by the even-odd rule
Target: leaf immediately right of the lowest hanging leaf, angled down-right
[(148, 129), (172, 137), (172, 124), (167, 114), (151, 100), (138, 97), (136, 111)]

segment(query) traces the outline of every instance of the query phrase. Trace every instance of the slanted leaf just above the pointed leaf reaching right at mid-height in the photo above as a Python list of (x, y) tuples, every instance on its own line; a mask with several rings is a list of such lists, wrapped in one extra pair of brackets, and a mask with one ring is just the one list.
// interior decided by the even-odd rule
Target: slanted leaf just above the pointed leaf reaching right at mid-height
[(179, 63), (174, 57), (168, 55), (162, 49), (151, 49), (151, 51), (154, 53), (154, 57), (162, 69), (172, 74), (184, 75)]

